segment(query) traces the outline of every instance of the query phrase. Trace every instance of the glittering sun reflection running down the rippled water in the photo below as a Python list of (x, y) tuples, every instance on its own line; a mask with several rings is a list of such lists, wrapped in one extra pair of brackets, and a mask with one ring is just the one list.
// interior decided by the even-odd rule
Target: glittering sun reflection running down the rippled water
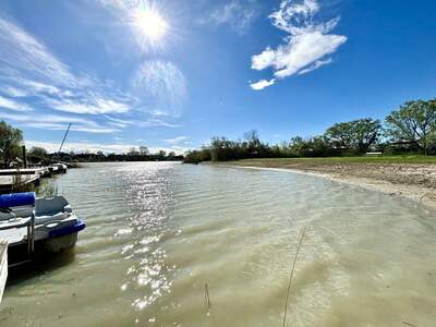
[(171, 288), (169, 274), (174, 267), (166, 263), (167, 253), (160, 243), (167, 232), (171, 175), (172, 166), (147, 164), (123, 174), (123, 183), (128, 185), (125, 201), (132, 216), (129, 228), (117, 235), (125, 237), (131, 230), (134, 237), (131, 237), (132, 243), (121, 249), (123, 257), (132, 262), (121, 290), (134, 291), (136, 298), (132, 300), (132, 306), (140, 311), (169, 293)]

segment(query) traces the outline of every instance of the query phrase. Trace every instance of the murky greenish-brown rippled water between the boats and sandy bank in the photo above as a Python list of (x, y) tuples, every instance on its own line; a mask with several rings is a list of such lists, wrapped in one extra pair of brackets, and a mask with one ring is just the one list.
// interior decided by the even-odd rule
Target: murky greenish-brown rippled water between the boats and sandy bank
[(93, 164), (57, 184), (88, 227), (11, 272), (0, 326), (282, 326), (304, 228), (288, 326), (436, 324), (436, 217), (412, 202), (170, 162)]

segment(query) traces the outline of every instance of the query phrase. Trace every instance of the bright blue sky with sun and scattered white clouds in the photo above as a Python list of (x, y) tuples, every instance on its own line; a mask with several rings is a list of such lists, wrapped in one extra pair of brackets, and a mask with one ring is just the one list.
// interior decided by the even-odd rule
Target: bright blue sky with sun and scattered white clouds
[(0, 119), (28, 147), (271, 144), (436, 97), (433, 0), (0, 1)]

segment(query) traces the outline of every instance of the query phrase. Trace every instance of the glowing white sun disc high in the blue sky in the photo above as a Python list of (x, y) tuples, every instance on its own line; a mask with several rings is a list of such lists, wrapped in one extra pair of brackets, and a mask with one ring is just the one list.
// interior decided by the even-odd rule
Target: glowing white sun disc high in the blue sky
[(140, 10), (134, 15), (137, 31), (150, 41), (159, 41), (168, 32), (168, 22), (152, 9)]

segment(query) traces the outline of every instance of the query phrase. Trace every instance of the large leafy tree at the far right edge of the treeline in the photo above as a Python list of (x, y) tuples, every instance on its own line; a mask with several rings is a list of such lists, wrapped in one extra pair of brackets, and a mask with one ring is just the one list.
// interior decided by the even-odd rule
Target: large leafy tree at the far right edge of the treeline
[(408, 101), (386, 117), (386, 135), (415, 143), (426, 155), (436, 133), (436, 99)]

